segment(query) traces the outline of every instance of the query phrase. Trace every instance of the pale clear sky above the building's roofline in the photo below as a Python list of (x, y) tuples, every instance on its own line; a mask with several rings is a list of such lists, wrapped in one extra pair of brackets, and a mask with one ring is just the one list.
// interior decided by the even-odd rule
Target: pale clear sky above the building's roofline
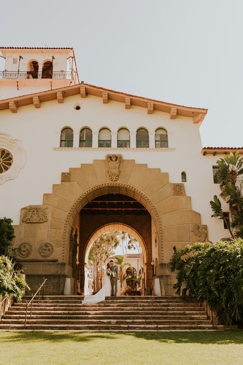
[(0, 13), (0, 46), (73, 47), (80, 81), (208, 108), (202, 145), (243, 146), (242, 0), (12, 0)]

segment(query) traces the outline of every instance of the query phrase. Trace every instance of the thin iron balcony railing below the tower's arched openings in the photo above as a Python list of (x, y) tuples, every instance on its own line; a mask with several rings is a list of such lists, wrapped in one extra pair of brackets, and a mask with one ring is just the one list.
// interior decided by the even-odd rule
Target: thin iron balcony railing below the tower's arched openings
[(53, 72), (34, 72), (34, 71), (0, 71), (0, 79), (5, 80), (73, 80), (72, 72), (53, 71)]

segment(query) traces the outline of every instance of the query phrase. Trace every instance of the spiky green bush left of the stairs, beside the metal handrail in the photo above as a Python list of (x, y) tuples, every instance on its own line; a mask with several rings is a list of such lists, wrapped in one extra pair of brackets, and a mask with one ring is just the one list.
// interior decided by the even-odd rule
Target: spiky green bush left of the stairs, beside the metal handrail
[(14, 262), (6, 256), (0, 256), (0, 298), (14, 297), (21, 301), (27, 285), (21, 271), (14, 270)]

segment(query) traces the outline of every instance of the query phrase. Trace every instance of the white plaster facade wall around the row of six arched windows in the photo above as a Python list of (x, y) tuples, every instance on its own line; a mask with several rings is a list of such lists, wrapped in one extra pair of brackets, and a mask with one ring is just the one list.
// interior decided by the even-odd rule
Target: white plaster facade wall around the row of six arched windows
[[(74, 105), (81, 109), (75, 110)], [(65, 98), (64, 104), (50, 101), (41, 104), (40, 109), (33, 105), (19, 107), (17, 113), (0, 111), (0, 132), (9, 133), (21, 139), (27, 151), (27, 162), (15, 180), (0, 186), (0, 215), (19, 223), (19, 212), (24, 206), (42, 204), (43, 194), (51, 193), (52, 184), (60, 183), (61, 172), (69, 167), (79, 167), (82, 163), (92, 163), (94, 159), (105, 159), (110, 150), (53, 150), (59, 146), (60, 131), (69, 126), (74, 130), (74, 147), (78, 147), (79, 130), (89, 126), (96, 138), (100, 128), (108, 127), (115, 133), (120, 127), (127, 127), (131, 134), (139, 127), (146, 127), (152, 135), (158, 127), (168, 131), (169, 147), (175, 150), (138, 151), (117, 149), (124, 159), (134, 159), (136, 163), (147, 163), (148, 167), (160, 168), (169, 173), (169, 181), (181, 182), (181, 171), (186, 171), (186, 195), (191, 196), (192, 208), (201, 214), (201, 223), (208, 225), (209, 239), (216, 241), (228, 236), (220, 220), (211, 218), (209, 201), (219, 194), (219, 187), (213, 183), (212, 165), (217, 156), (202, 156), (201, 142), (197, 124), (192, 119), (176, 117), (170, 120), (169, 114), (154, 111), (147, 114), (146, 108), (131, 106), (125, 109), (123, 103), (110, 101), (103, 104), (102, 98), (89, 95), (81, 99), (79, 95)], [(96, 133), (96, 137), (95, 137)], [(131, 145), (135, 147), (135, 145)]]

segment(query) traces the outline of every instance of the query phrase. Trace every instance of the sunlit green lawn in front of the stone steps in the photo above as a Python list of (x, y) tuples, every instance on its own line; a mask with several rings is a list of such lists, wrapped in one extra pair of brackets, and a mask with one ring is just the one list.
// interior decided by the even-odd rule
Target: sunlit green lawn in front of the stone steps
[(0, 365), (243, 364), (243, 331), (0, 332)]

